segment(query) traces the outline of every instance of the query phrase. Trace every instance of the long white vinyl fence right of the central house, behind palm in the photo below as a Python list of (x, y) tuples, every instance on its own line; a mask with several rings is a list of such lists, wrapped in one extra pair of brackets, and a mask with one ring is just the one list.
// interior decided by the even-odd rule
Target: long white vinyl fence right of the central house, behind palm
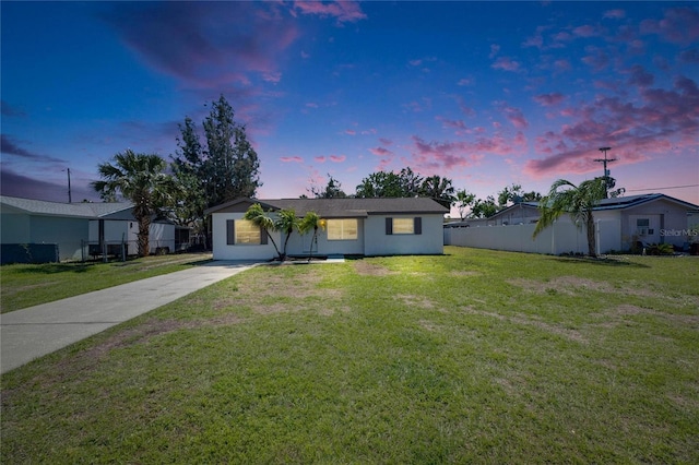
[[(511, 252), (588, 253), (584, 225), (559, 219), (532, 239), (535, 224), (482, 227), (445, 227), (445, 245)], [(621, 249), (621, 225), (616, 219), (595, 222), (597, 253)]]

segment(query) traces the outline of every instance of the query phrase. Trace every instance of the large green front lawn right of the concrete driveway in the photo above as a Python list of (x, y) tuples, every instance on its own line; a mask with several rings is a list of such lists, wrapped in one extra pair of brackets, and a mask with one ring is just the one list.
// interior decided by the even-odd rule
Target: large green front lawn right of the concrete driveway
[(2, 377), (2, 463), (699, 463), (699, 261), (260, 266)]

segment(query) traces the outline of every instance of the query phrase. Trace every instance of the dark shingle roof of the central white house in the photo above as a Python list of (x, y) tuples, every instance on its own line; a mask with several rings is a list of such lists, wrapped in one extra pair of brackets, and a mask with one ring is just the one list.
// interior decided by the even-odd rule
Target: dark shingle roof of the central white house
[(316, 212), (323, 218), (365, 217), (387, 214), (439, 214), (449, 212), (431, 199), (237, 199), (214, 206), (206, 213), (215, 213), (240, 202), (259, 202), (265, 208), (294, 210), (303, 216), (306, 212)]

